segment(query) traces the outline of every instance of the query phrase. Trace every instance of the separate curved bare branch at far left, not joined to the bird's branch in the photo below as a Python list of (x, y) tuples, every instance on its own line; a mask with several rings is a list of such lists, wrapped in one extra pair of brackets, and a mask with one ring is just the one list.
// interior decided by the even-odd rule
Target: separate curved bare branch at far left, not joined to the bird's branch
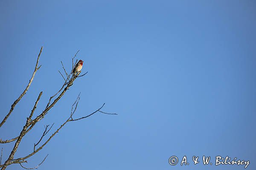
[(38, 69), (41, 67), (41, 65), (38, 67), (38, 62), (39, 62), (39, 57), (41, 55), (41, 52), (43, 51), (43, 47), (41, 47), (41, 50), (38, 54), (38, 58), (37, 58), (37, 61), (36, 61), (36, 64), (35, 64), (35, 70), (32, 74), (32, 77), (31, 79), (29, 80), (29, 84), (26, 86), (25, 90), (22, 92), (22, 94), (20, 94), (20, 96), (18, 97), (17, 100), (15, 100), (15, 102), (12, 104), (11, 106), (11, 109), (9, 111), (9, 113), (5, 116), (5, 118), (3, 118), (3, 121), (0, 123), (0, 127), (6, 122), (6, 120), (8, 119), (8, 117), (10, 116), (10, 114), (12, 113), (13, 109), (15, 108), (15, 105), (17, 105), (17, 103), (20, 101), (20, 99), (26, 94), (26, 92), (28, 91), (34, 77), (35, 77), (35, 73), (36, 71), (38, 71)]

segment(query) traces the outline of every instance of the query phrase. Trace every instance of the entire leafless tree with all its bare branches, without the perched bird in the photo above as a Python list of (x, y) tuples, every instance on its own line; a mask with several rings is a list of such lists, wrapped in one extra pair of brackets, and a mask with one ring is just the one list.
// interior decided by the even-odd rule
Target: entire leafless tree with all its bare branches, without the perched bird
[[(20, 94), (20, 96), (18, 97), (18, 99), (15, 100), (15, 102), (11, 105), (11, 109), (9, 111), (9, 113), (7, 113), (7, 115), (3, 118), (3, 121), (0, 122), (0, 127), (2, 127), (2, 125), (6, 122), (6, 120), (9, 118), (9, 116), (11, 115), (12, 111), (14, 110), (15, 108), (15, 105), (17, 105), (17, 103), (20, 101), (20, 99), (26, 94), (26, 92), (28, 91), (34, 77), (35, 77), (35, 74), (36, 72), (39, 70), (39, 68), (41, 67), (41, 65), (38, 67), (38, 62), (39, 62), (39, 58), (41, 56), (41, 52), (43, 50), (43, 47), (41, 47), (41, 50), (38, 54), (38, 58), (37, 58), (37, 61), (36, 61), (36, 65), (35, 65), (35, 70), (32, 74), (32, 77), (31, 79), (29, 80), (29, 84), (26, 86), (25, 90), (22, 92), (22, 94)], [(51, 126), (47, 125), (45, 126), (45, 129), (44, 129), (44, 132), (43, 134), (41, 135), (40, 139), (38, 140), (37, 143), (34, 144), (34, 150), (32, 153), (28, 154), (28, 155), (25, 155), (23, 157), (20, 157), (20, 158), (16, 158), (14, 159), (14, 156), (15, 156), (15, 153), (19, 147), (19, 144), (22, 140), (22, 138), (36, 125), (37, 122), (41, 121), (42, 119), (44, 119), (44, 117), (47, 115), (47, 113), (49, 112), (49, 110), (54, 107), (54, 105), (59, 101), (59, 99), (61, 99), (62, 96), (64, 96), (65, 92), (70, 88), (70, 86), (73, 85), (73, 82), (79, 78), (79, 77), (83, 77), (85, 74), (87, 74), (87, 72), (83, 75), (80, 75), (81, 71), (79, 71), (78, 73), (73, 73), (73, 69), (74, 69), (74, 66), (76, 65), (76, 62), (77, 62), (77, 59), (76, 59), (76, 62), (74, 62), (74, 59), (76, 57), (76, 55), (78, 54), (79, 51), (77, 51), (77, 53), (75, 54), (75, 56), (72, 58), (72, 71), (70, 71), (70, 73), (68, 74), (63, 63), (61, 62), (61, 65), (62, 65), (62, 68), (64, 70), (64, 75), (65, 77), (63, 76), (63, 74), (61, 74), (61, 71), (59, 71), (59, 73), (61, 74), (61, 77), (63, 77), (64, 79), (64, 84), (62, 85), (62, 87), (60, 88), (60, 90), (54, 94), (53, 96), (51, 96), (49, 98), (49, 102), (47, 103), (46, 105), (46, 108), (44, 109), (44, 111), (42, 111), (42, 113), (40, 115), (38, 115), (37, 117), (35, 117), (34, 119), (32, 119), (33, 117), (33, 114), (35, 112), (35, 109), (38, 105), (38, 102), (43, 94), (43, 92), (41, 91), (40, 94), (38, 95), (36, 101), (35, 101), (35, 105), (33, 106), (32, 108), (32, 111), (31, 113), (29, 114), (29, 117), (26, 118), (26, 121), (25, 121), (25, 125), (23, 126), (22, 130), (20, 131), (20, 135), (13, 138), (13, 139), (7, 139), (7, 140), (2, 140), (0, 139), (0, 143), (2, 144), (5, 144), (5, 143), (9, 143), (9, 142), (15, 142), (14, 144), (14, 147), (11, 151), (11, 153), (9, 154), (9, 157), (8, 159), (2, 164), (2, 155), (3, 155), (3, 148), (1, 150), (1, 156), (0, 156), (0, 167), (1, 167), (1, 170), (5, 170), (7, 166), (9, 166), (10, 164), (20, 164), (21, 167), (23, 167), (24, 169), (37, 169), (44, 161), (45, 159), (47, 158), (47, 156), (43, 159), (43, 161), (41, 161), (40, 164), (38, 164), (37, 166), (33, 167), (33, 168), (27, 168), (27, 167), (24, 167), (22, 163), (24, 162), (27, 162), (26, 159), (28, 159), (29, 157), (35, 155), (36, 153), (38, 153), (52, 138), (53, 136), (56, 135), (56, 133), (58, 133), (59, 130), (61, 130), (61, 128), (66, 125), (68, 122), (75, 122), (75, 121), (79, 121), (81, 119), (85, 119), (89, 116), (92, 116), (93, 114), (95, 113), (104, 113), (104, 114), (112, 114), (112, 115), (116, 115), (116, 113), (106, 113), (106, 112), (103, 112), (101, 109), (104, 107), (105, 103), (100, 107), (98, 108), (96, 111), (94, 111), (93, 113), (90, 113), (89, 115), (87, 116), (84, 116), (84, 117), (80, 117), (78, 119), (73, 119), (73, 115), (74, 113), (76, 112), (76, 108), (78, 106), (78, 103), (79, 103), (79, 99), (80, 99), (80, 94), (78, 95), (76, 101), (73, 103), (73, 105), (71, 106), (71, 112), (70, 112), (70, 116), (67, 118), (67, 120), (57, 129), (55, 130), (54, 133), (52, 133), (52, 135), (46, 140), (46, 142), (44, 142), (43, 144), (41, 144), (41, 146), (39, 147), (42, 139), (44, 138), (44, 136), (47, 135), (47, 133), (49, 132), (49, 130), (51, 130), (53, 124)], [(57, 96), (58, 95), (58, 96)], [(57, 96), (53, 102), (51, 102), (51, 100)]]

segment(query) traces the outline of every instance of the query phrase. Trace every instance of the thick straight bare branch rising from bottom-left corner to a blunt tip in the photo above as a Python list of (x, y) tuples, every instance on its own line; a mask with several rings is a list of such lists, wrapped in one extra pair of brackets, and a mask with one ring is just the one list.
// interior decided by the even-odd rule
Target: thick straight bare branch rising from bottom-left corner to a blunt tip
[(17, 148), (18, 148), (18, 146), (19, 146), (19, 144), (20, 144), (20, 141), (21, 141), (21, 139), (23, 138), (23, 136), (25, 135), (27, 128), (29, 127), (31, 118), (32, 118), (32, 116), (33, 116), (33, 113), (35, 112), (36, 106), (37, 106), (38, 101), (39, 101), (39, 99), (41, 98), (41, 95), (42, 95), (42, 94), (43, 94), (43, 92), (41, 91), (40, 94), (39, 94), (39, 96), (38, 96), (38, 99), (37, 99), (36, 102), (35, 102), (35, 105), (34, 105), (32, 111), (31, 111), (29, 117), (27, 118), (26, 125), (25, 125), (25, 126), (23, 127), (23, 129), (21, 130), (20, 136), (18, 137), (18, 139), (17, 139), (17, 141), (16, 141), (16, 143), (15, 143), (13, 149), (12, 149), (12, 152), (11, 152), (11, 154), (9, 155), (9, 158), (5, 161), (5, 163), (3, 164), (3, 167), (2, 167), (1, 170), (5, 170), (6, 167), (9, 165), (9, 163), (12, 161), (13, 156), (14, 156), (14, 154), (16, 153)]

